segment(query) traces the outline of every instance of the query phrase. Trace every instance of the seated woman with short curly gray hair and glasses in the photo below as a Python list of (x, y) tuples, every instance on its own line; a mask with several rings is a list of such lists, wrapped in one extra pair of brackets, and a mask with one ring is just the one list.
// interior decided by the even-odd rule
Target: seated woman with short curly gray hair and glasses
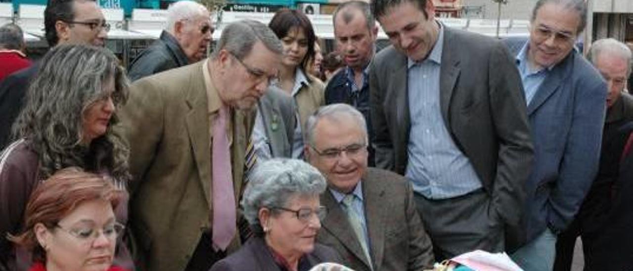
[(254, 169), (242, 196), (244, 217), (254, 236), (215, 270), (310, 270), (323, 262), (341, 262), (334, 249), (315, 244), (325, 217), (319, 194), (325, 179), (301, 160), (278, 158)]

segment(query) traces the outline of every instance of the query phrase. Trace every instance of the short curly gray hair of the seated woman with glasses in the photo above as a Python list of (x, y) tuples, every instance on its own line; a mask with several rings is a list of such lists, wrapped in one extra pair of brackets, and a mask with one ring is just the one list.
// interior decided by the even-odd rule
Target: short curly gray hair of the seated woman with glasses
[(264, 161), (254, 168), (244, 190), (244, 217), (255, 234), (261, 234), (260, 208), (286, 206), (293, 196), (318, 196), (326, 186), (323, 175), (304, 161), (287, 158)]

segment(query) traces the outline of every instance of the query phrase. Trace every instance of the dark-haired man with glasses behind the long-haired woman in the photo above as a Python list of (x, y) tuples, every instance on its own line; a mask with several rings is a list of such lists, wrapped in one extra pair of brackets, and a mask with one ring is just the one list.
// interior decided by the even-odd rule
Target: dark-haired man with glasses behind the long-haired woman
[[(103, 46), (108, 30), (110, 25), (94, 0), (51, 0), (44, 10), (44, 36), (50, 47)], [(22, 110), (28, 85), (38, 69), (39, 63), (35, 63), (9, 75), (0, 84), (0, 150), (11, 141), (11, 125)]]

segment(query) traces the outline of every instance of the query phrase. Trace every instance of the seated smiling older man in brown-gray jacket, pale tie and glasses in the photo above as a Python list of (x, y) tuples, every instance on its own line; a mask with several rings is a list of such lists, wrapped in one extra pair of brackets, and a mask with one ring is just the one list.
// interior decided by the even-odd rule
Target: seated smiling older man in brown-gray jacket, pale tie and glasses
[(327, 179), (321, 203), (328, 215), (316, 236), (356, 271), (432, 269), (430, 239), (403, 176), (367, 167), (365, 117), (331, 104), (306, 122), (305, 154)]

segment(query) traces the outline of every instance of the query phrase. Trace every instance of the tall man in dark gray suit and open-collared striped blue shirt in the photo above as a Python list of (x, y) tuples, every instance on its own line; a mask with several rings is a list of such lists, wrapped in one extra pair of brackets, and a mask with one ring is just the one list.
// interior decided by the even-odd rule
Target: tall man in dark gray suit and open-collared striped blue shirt
[(392, 43), (370, 65), (376, 164), (411, 180), (437, 260), (517, 246), (533, 154), (508, 50), (437, 22), (432, 1), (372, 11)]

